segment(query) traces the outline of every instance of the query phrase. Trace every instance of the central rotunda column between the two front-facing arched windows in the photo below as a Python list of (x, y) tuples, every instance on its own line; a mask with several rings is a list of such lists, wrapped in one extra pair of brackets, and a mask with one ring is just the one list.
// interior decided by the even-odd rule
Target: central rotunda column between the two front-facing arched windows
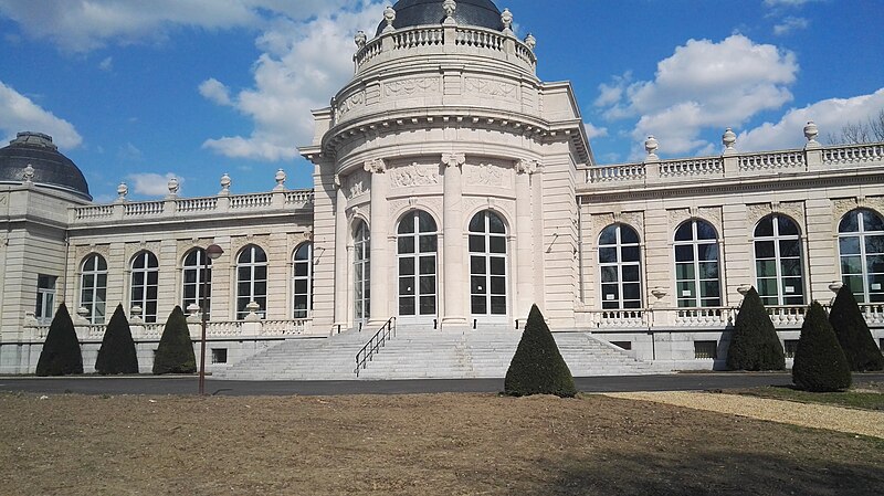
[(470, 294), (464, 278), (463, 262), (463, 182), (462, 167), (466, 162), (464, 154), (443, 154), (445, 165), (442, 193), (442, 249), (443, 271), (445, 277), (442, 328), (466, 326), (464, 314), (464, 295)]

